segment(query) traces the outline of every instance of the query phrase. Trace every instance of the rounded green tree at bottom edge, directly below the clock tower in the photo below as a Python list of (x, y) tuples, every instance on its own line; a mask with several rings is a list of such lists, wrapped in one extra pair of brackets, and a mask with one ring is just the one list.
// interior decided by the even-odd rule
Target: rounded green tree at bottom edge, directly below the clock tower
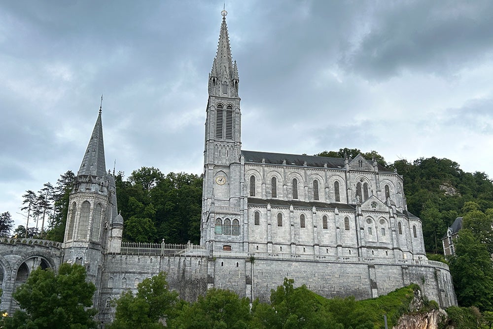
[(251, 321), (248, 298), (240, 298), (229, 290), (209, 289), (205, 296), (182, 304), (179, 315), (171, 321), (176, 329), (244, 329)]

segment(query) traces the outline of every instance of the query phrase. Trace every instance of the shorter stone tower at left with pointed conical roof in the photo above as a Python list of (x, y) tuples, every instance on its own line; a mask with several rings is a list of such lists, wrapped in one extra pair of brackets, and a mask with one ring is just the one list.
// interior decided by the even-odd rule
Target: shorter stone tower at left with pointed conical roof
[(107, 230), (117, 214), (113, 175), (106, 173), (101, 107), (86, 152), (74, 179), (65, 228), (64, 261), (86, 267), (98, 287)]

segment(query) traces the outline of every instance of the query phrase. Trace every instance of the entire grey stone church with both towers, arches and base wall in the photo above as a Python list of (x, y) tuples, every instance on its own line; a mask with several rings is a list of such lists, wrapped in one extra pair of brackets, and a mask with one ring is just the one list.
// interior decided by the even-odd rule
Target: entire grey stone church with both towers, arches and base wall
[(17, 307), (12, 293), (34, 268), (57, 270), (62, 262), (86, 267), (102, 323), (114, 315), (112, 299), (160, 271), (187, 300), (216, 287), (268, 301), (287, 277), (325, 297), (357, 299), (417, 283), (442, 307), (457, 305), (448, 266), (426, 258), (421, 220), (407, 211), (397, 172), (361, 155), (242, 149), (225, 16), (209, 74), (200, 245), (122, 242), (100, 110), (70, 195), (64, 243), (1, 239), (0, 308)]

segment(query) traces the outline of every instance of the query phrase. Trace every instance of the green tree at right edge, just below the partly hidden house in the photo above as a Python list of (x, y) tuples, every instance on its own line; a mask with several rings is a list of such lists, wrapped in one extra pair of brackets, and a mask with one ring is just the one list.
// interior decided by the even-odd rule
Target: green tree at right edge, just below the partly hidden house
[(455, 247), (449, 267), (458, 303), (493, 311), (493, 264), (486, 246), (470, 230), (462, 229)]

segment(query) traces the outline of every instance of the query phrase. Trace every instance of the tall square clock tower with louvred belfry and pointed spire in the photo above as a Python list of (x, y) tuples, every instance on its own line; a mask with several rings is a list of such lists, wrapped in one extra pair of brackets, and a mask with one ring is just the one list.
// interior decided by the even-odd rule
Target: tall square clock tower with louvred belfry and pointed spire
[[(221, 12), (222, 24), (217, 53), (209, 74), (209, 100), (205, 127), (204, 186), (201, 223), (201, 244), (209, 250), (240, 246), (243, 223), (243, 176), (241, 175), (241, 111), (238, 87), (240, 78), (236, 61), (232, 60), (226, 25), (227, 12)], [(216, 225), (216, 220), (221, 224)], [(228, 234), (215, 234), (214, 230)], [(221, 246), (214, 246), (220, 242)]]

